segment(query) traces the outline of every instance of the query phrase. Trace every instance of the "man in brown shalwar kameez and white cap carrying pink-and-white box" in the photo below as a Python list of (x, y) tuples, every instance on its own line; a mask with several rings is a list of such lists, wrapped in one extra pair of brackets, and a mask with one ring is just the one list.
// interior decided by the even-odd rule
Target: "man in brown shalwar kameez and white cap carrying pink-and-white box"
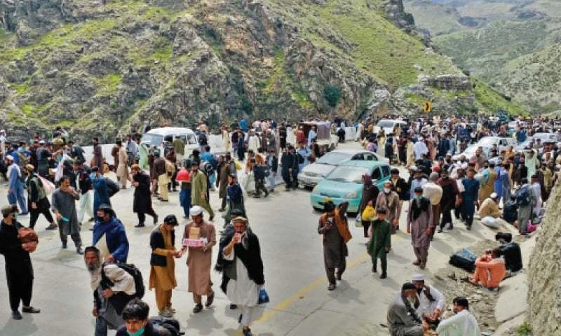
[(215, 227), (212, 223), (205, 221), (203, 218), (203, 208), (198, 205), (192, 207), (189, 211), (191, 215), (191, 223), (185, 226), (183, 238), (189, 238), (191, 228), (199, 229), (199, 238), (206, 239), (204, 246), (184, 246), (183, 252), (189, 250), (187, 255), (187, 267), (189, 268), (188, 275), (188, 290), (193, 293), (193, 301), (195, 307), (194, 313), (203, 310), (201, 303), (202, 296), (206, 295), (205, 307), (210, 307), (215, 298), (215, 293), (212, 291), (212, 281), (210, 281), (210, 266), (212, 264), (212, 246), (216, 244)]

